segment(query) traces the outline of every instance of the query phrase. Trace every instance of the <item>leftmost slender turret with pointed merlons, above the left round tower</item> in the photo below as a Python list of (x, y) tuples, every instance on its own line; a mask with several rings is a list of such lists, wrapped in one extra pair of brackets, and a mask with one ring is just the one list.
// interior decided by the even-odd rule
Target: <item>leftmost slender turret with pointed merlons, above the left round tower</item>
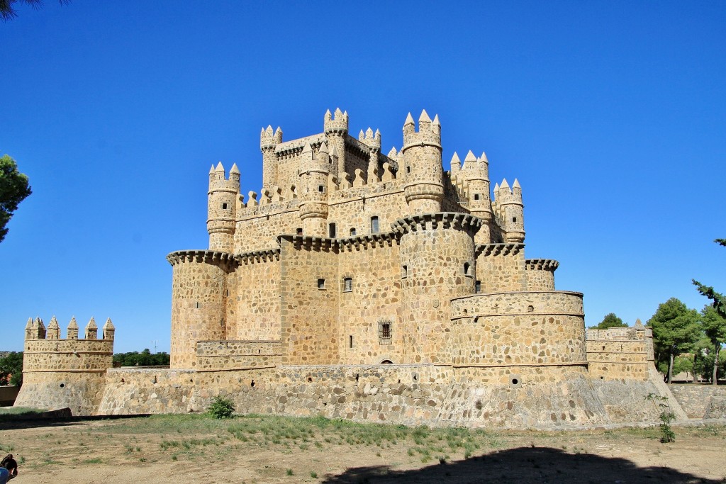
[(234, 252), (234, 223), (239, 197), (240, 170), (237, 164), (232, 165), (229, 179), (226, 179), (220, 162), (209, 171), (207, 231), (210, 250)]

